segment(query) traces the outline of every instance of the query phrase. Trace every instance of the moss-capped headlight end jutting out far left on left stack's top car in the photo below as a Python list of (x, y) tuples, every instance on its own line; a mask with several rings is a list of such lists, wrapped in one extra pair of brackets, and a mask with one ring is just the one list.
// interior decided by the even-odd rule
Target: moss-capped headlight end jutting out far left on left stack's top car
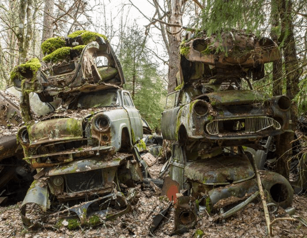
[(10, 80), (13, 82), (15, 78), (23, 79), (35, 79), (36, 72), (40, 68), (41, 63), (39, 59), (33, 58), (28, 60), (26, 63), (22, 63), (13, 68), (10, 74)]

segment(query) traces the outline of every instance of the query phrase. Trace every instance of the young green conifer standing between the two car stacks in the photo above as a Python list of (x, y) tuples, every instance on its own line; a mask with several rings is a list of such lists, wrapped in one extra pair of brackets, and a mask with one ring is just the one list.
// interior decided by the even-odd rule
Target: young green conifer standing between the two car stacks
[(130, 91), (136, 108), (151, 128), (159, 130), (166, 90), (158, 65), (146, 47), (146, 37), (137, 27), (122, 35), (118, 57), (126, 81), (124, 89)]

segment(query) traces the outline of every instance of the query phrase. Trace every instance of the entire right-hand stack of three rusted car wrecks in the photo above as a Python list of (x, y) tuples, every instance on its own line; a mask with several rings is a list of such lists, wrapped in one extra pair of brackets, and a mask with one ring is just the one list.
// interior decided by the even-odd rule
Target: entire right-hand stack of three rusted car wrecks
[[(180, 89), (167, 96), (161, 119), (163, 139), (173, 141), (170, 178), (192, 197), (179, 198), (175, 232), (195, 225), (195, 199), (209, 213), (218, 212), (258, 190), (252, 156), (243, 146), (265, 149), (261, 138), (291, 131), (290, 99), (253, 90), (250, 81), (263, 78), (264, 64), (277, 59), (274, 41), (244, 31), (183, 42)], [(273, 172), (263, 172), (262, 179), (271, 202), (290, 206), (287, 179)]]

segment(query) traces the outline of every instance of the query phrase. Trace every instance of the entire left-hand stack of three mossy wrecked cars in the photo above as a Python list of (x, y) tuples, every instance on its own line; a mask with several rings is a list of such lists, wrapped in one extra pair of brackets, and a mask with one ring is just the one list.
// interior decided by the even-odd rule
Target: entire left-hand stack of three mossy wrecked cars
[[(59, 219), (92, 226), (115, 218), (130, 209), (134, 183), (147, 176), (146, 162), (133, 147), (143, 137), (142, 119), (122, 89), (121, 64), (109, 42), (78, 31), (63, 44), (47, 52), (35, 71), (17, 68), (12, 77), (23, 92), (23, 115), (31, 119), (18, 142), (39, 171), (21, 206), (28, 226)], [(31, 113), (29, 92), (49, 105), (48, 114)]]

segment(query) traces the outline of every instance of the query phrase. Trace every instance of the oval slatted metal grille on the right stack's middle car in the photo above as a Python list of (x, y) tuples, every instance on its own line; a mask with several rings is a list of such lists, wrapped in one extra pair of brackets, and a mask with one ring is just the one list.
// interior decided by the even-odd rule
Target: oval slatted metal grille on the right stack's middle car
[(278, 121), (270, 117), (250, 117), (234, 119), (217, 119), (206, 125), (210, 135), (226, 133), (257, 133), (265, 130), (279, 130)]

